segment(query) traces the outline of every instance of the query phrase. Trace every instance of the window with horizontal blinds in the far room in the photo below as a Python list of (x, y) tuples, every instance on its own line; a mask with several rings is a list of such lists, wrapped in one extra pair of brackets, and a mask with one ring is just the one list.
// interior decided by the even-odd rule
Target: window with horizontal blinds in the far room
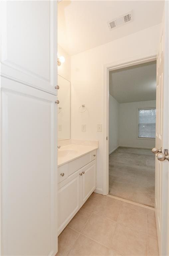
[(138, 137), (155, 138), (156, 109), (138, 110)]

